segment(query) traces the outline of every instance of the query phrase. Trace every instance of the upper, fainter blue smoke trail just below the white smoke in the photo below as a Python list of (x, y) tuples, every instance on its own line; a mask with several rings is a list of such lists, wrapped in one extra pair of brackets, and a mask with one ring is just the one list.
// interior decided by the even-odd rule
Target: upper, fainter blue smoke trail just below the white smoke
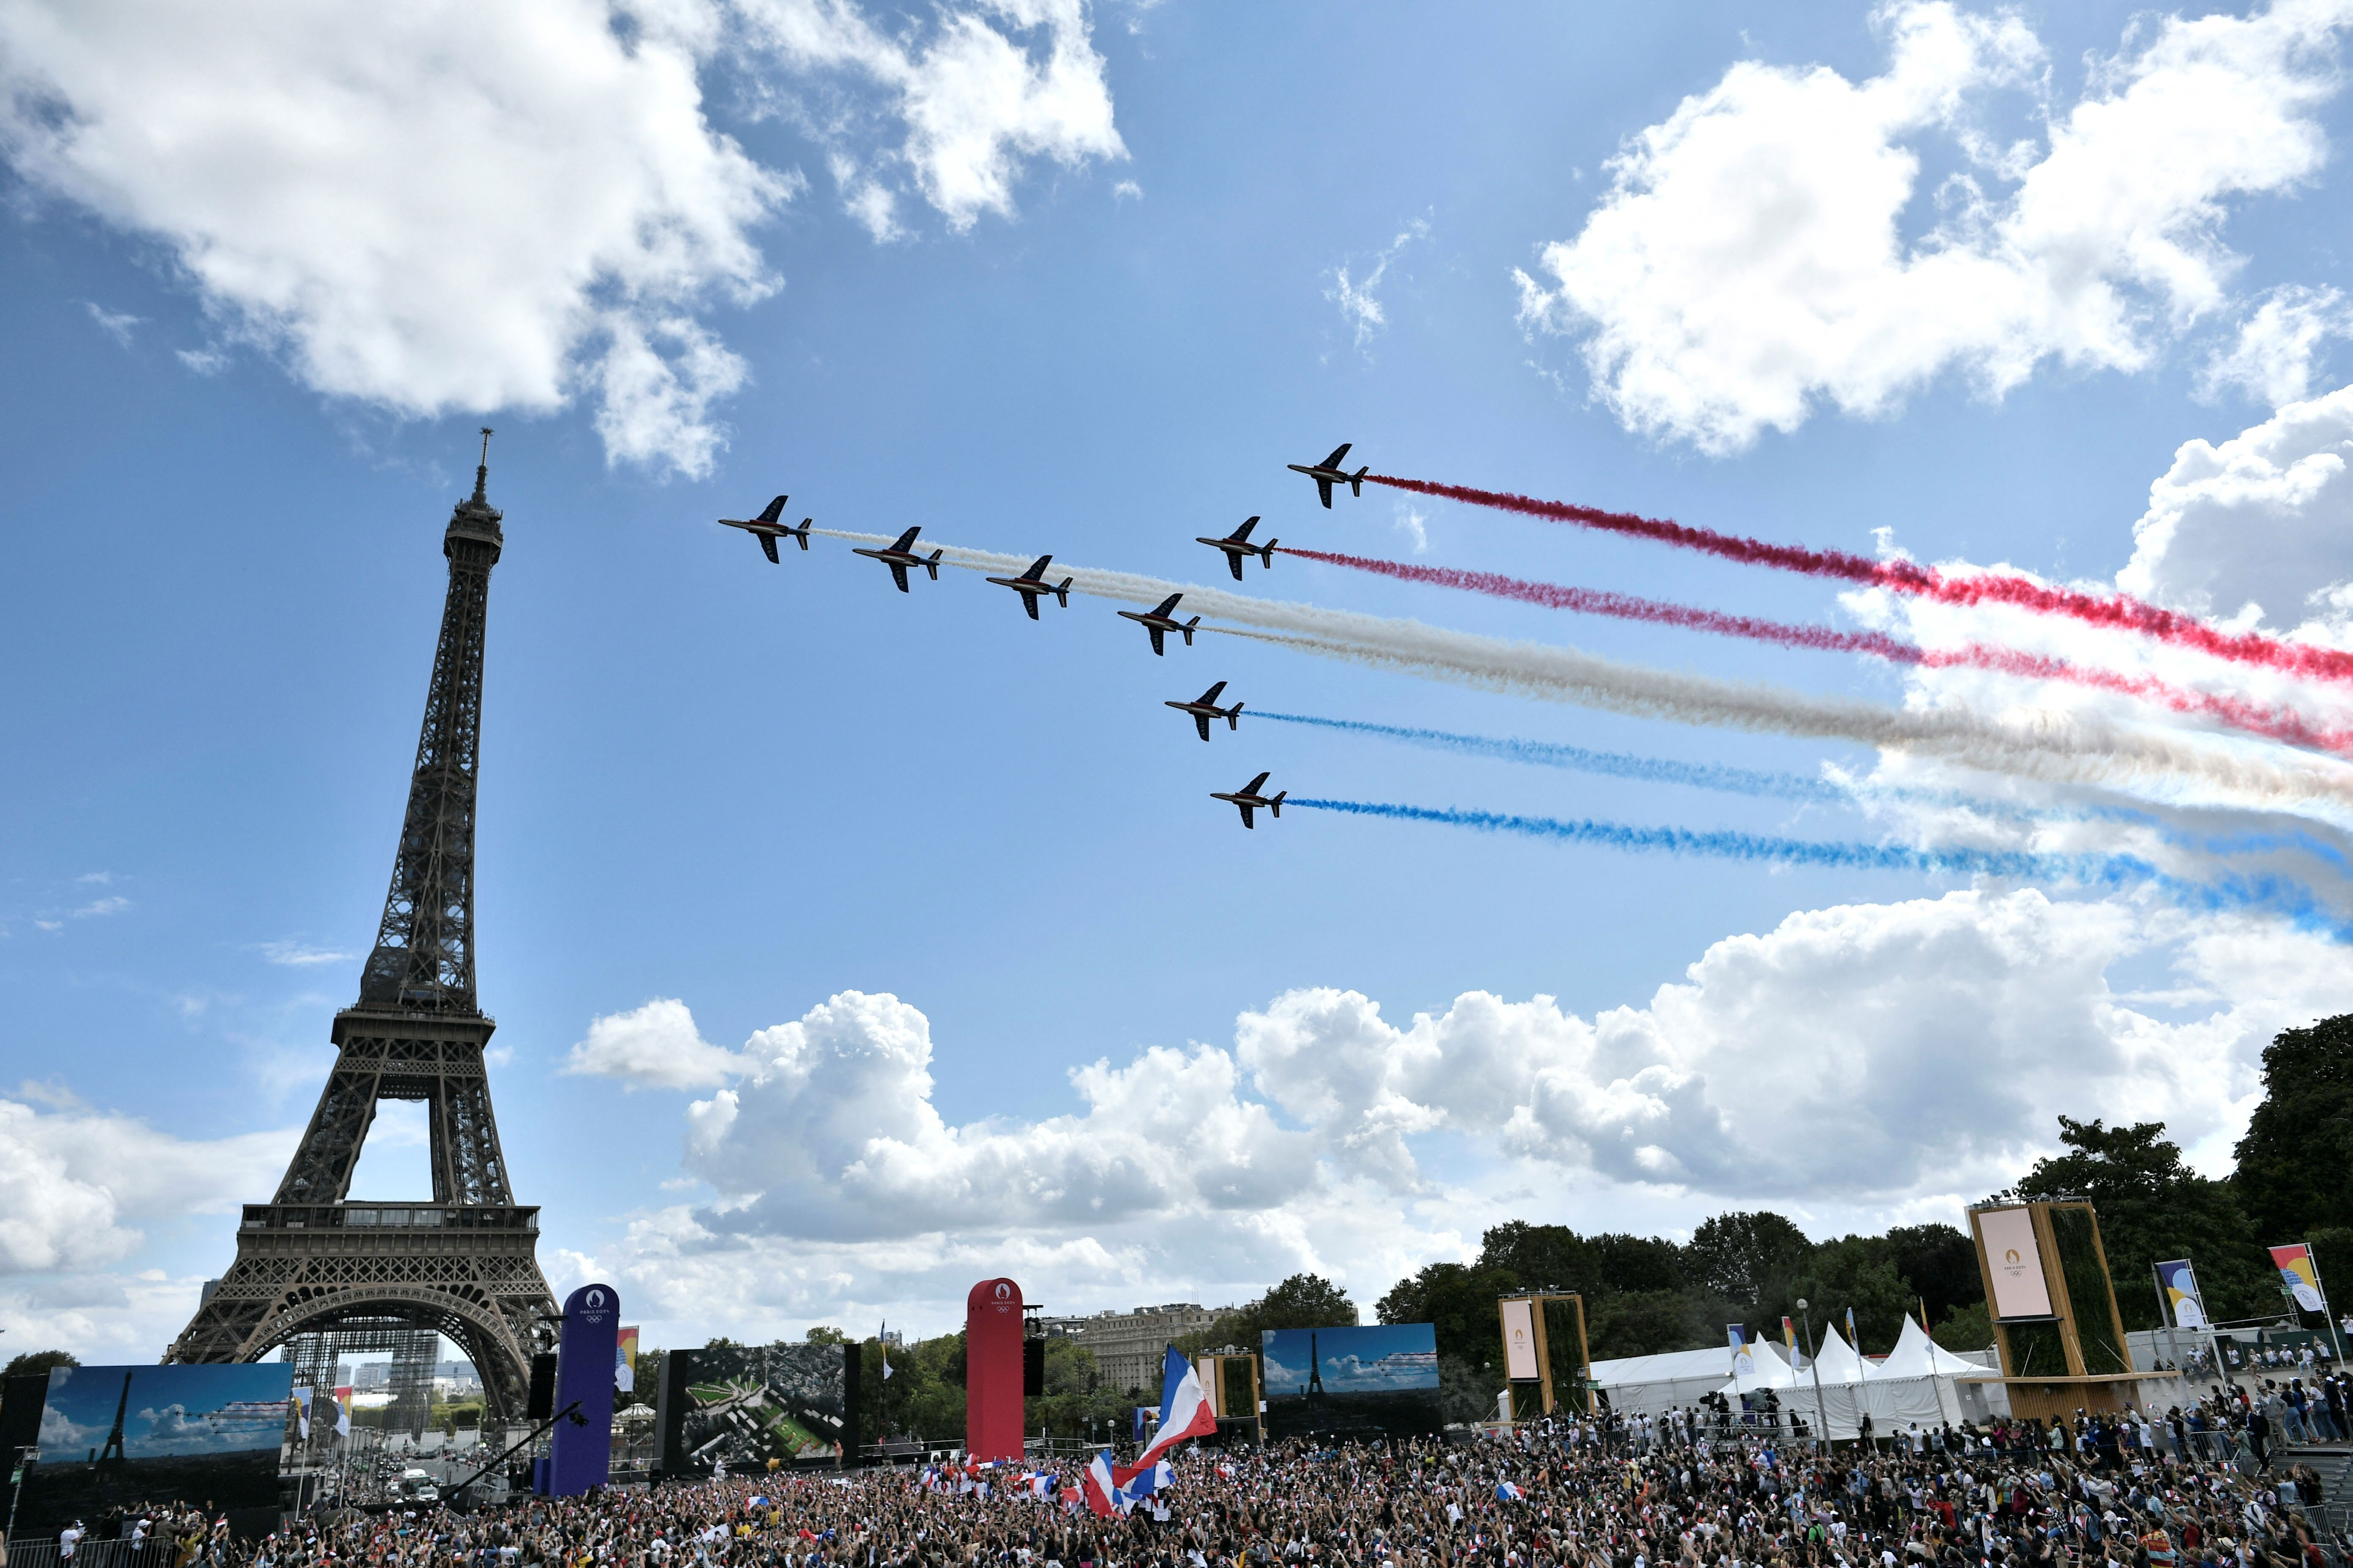
[(1405, 729), (1398, 724), (1367, 724), (1362, 719), (1325, 719), (1306, 712), (1266, 712), (1254, 708), (1249, 712), (1254, 719), (1275, 719), (1278, 724), (1311, 724), (1315, 729), (1339, 729), (1358, 736), (1381, 736), (1384, 741), (1405, 741), (1407, 745), (1426, 745), (1442, 752), (1459, 752), (1466, 757), (1497, 757), (1501, 762), (1525, 762), (1541, 769), (1569, 769), (1577, 773), (1605, 773), (1609, 778), (1638, 778), (1642, 783), (1671, 783), (1689, 785), (1694, 790), (1718, 790), (1722, 795), (1748, 795), (1765, 799), (1795, 799), (1826, 806), (1852, 806), (1871, 797), (1887, 797), (1908, 802), (1915, 806), (1948, 806), (1962, 811), (1981, 811), (1986, 816), (2007, 816), (2017, 820), (2057, 820), (2057, 823), (2127, 823), (2134, 827), (2155, 827), (2165, 835), (2169, 844), (2184, 849), (2202, 849), (2212, 856), (2242, 856), (2242, 853), (2268, 853), (2280, 849), (2301, 849), (2308, 856), (2327, 860), (2339, 870), (2353, 870), (2344, 851), (2334, 844), (2315, 839), (2308, 832), (2240, 832), (2240, 835), (2195, 835), (2172, 827), (2162, 818), (2137, 811), (2132, 806), (2021, 806), (2000, 799), (1986, 799), (1981, 795), (1967, 795), (1960, 790), (1920, 790), (1908, 785), (1878, 785), (1857, 788), (1838, 785), (1826, 778), (1809, 778), (1805, 773), (1767, 773), (1760, 769), (1734, 769), (1713, 762), (1668, 762), (1664, 757), (1635, 757), (1633, 752), (1595, 752), (1584, 745), (1560, 745), (1555, 741), (1520, 741), (1518, 736), (1464, 736), (1447, 729)]

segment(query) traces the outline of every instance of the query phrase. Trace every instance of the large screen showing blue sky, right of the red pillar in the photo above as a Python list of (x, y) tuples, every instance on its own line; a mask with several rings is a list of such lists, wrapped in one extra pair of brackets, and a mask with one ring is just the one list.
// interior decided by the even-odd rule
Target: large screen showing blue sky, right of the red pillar
[(1266, 1436), (1412, 1436), (1438, 1432), (1438, 1331), (1268, 1328), (1259, 1335)]

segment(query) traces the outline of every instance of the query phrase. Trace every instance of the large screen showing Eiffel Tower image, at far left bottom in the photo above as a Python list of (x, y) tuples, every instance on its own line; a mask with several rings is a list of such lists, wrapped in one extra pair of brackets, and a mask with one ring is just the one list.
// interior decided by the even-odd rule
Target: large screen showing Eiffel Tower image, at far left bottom
[(139, 1502), (193, 1502), (214, 1516), (275, 1512), (292, 1396), (285, 1361), (59, 1366), (16, 1530), (47, 1535)]

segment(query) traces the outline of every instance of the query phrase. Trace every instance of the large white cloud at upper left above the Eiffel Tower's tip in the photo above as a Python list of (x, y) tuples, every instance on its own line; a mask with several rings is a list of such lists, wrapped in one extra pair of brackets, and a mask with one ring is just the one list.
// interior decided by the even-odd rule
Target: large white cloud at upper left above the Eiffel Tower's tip
[(322, 393), (433, 416), (591, 390), (614, 456), (704, 473), (706, 404), (741, 364), (694, 334), (666, 378), (642, 357), (680, 313), (774, 287), (748, 230), (788, 193), (704, 118), (713, 21), (692, 0), (7, 0), (0, 134)]

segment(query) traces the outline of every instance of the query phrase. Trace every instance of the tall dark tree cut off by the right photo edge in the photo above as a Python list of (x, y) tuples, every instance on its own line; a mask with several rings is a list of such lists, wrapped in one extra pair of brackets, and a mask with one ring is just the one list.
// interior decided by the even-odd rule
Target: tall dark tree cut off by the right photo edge
[(2264, 1103), (2233, 1185), (2266, 1246), (2353, 1225), (2353, 1013), (2264, 1046)]

